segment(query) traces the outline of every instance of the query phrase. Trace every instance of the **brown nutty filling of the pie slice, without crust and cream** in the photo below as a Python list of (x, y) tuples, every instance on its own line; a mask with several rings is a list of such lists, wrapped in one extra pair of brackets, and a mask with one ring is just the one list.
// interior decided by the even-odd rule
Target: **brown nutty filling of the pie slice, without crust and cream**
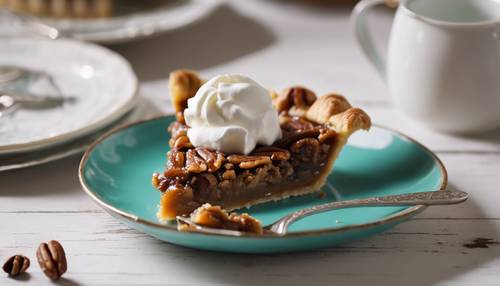
[(280, 119), (283, 137), (249, 155), (193, 147), (188, 127), (172, 123), (166, 169), (153, 175), (153, 185), (163, 192), (160, 217), (187, 215), (204, 203), (231, 210), (310, 184), (325, 168), (337, 133), (296, 116)]

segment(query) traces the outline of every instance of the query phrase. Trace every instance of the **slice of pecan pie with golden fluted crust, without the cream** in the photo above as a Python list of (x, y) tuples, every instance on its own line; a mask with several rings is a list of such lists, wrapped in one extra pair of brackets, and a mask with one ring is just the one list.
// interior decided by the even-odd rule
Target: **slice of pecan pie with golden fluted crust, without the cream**
[(319, 191), (348, 137), (371, 125), (368, 115), (343, 96), (317, 98), (311, 90), (292, 87), (280, 95), (270, 92), (282, 131), (272, 145), (258, 145), (248, 155), (194, 147), (183, 112), (202, 84), (191, 71), (170, 75), (177, 121), (168, 128), (166, 168), (152, 179), (162, 192), (162, 221), (188, 215), (205, 203), (230, 211)]

